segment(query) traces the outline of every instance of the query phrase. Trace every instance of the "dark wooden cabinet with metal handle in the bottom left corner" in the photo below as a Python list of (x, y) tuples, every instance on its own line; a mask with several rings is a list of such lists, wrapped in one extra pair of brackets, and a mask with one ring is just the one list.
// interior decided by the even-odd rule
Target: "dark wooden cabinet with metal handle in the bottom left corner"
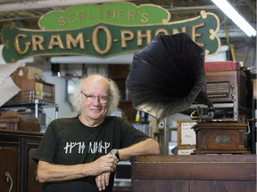
[(0, 130), (1, 192), (42, 191), (42, 184), (36, 181), (37, 164), (32, 159), (42, 137), (40, 132)]

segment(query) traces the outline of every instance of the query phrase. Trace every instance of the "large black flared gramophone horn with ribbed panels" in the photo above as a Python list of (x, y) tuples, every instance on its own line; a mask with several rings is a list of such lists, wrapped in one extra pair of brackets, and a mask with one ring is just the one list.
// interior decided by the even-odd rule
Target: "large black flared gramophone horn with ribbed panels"
[(204, 57), (185, 33), (155, 36), (134, 55), (126, 79), (133, 107), (157, 119), (185, 111), (193, 102), (213, 108), (203, 92)]

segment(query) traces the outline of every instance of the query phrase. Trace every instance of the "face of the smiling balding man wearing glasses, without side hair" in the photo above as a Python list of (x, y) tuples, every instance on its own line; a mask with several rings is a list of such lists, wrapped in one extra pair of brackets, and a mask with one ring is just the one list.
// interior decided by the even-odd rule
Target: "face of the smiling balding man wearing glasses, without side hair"
[(81, 115), (90, 120), (104, 120), (109, 107), (108, 90), (109, 83), (104, 77), (87, 77), (81, 92)]

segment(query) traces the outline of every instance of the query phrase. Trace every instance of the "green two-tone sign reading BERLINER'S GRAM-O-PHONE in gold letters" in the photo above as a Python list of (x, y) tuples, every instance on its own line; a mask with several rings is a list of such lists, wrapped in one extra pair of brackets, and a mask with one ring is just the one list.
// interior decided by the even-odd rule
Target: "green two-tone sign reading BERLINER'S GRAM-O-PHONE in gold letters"
[(87, 55), (105, 59), (137, 52), (159, 34), (187, 33), (205, 49), (206, 56), (220, 48), (218, 17), (200, 12), (190, 20), (170, 22), (170, 12), (154, 4), (86, 4), (48, 12), (40, 30), (5, 26), (3, 58), (7, 63), (36, 56)]

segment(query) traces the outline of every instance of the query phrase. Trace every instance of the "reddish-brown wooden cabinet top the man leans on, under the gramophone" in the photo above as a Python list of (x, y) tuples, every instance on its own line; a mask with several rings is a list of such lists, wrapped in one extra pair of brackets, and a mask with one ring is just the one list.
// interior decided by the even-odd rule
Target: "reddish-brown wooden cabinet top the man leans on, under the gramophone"
[(134, 156), (132, 192), (255, 192), (255, 155)]

